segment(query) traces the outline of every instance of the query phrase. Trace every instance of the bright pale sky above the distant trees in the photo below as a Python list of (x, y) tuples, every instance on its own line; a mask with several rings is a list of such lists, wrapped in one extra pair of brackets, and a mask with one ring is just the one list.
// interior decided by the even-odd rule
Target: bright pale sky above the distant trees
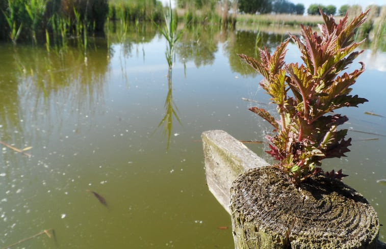
[[(161, 0), (161, 2), (164, 5), (169, 5), (169, 0)], [(303, 4), (305, 7), (305, 12), (307, 12), (308, 6), (310, 4), (323, 4), (324, 6), (327, 5), (334, 5), (337, 7), (337, 10), (342, 5), (348, 4), (348, 5), (361, 5), (362, 10), (365, 10), (365, 8), (369, 5), (375, 4), (375, 5), (386, 5), (386, 0), (289, 0), (289, 2), (294, 4)], [(175, 6), (175, 0), (171, 0), (172, 8)]]

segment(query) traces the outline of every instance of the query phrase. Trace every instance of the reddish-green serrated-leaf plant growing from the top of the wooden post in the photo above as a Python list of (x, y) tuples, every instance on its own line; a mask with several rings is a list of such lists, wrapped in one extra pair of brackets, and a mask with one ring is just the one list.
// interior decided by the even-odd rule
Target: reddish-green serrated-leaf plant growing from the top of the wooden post
[[(260, 86), (277, 105), (279, 120), (263, 108), (249, 109), (274, 127), (277, 134), (267, 136), (267, 153), (280, 161), (275, 167), (295, 184), (321, 173), (322, 159), (345, 156), (350, 151), (351, 139), (345, 140), (347, 129), (338, 129), (348, 118), (333, 111), (368, 101), (349, 95), (350, 86), (365, 70), (364, 64), (359, 62), (359, 69), (343, 72), (363, 52), (355, 50), (362, 42), (354, 42), (353, 37), (368, 11), (349, 23), (346, 14), (338, 24), (332, 16), (320, 12), (324, 20), (319, 25), (320, 35), (303, 25), (301, 38), (291, 35), (303, 64), (284, 61), (289, 40), (277, 46), (273, 54), (267, 48), (260, 49), (259, 60), (239, 54), (263, 75)], [(326, 174), (340, 179), (345, 176), (342, 171)]]

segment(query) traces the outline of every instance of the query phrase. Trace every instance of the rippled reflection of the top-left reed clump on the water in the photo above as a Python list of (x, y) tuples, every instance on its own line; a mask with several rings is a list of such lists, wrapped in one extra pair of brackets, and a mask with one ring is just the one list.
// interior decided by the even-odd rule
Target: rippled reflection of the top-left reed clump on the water
[[(12, 84), (0, 84), (0, 136), (2, 142), (14, 148), (29, 146), (31, 141), (27, 137), (35, 137), (34, 147), (41, 148), (36, 143), (42, 143), (56, 129), (68, 124), (68, 115), (81, 128), (83, 114), (91, 116), (98, 103), (104, 101), (108, 64), (100, 58), (106, 58), (106, 49), (90, 51), (87, 67), (82, 50), (77, 48), (50, 53), (43, 47), (2, 51), (6, 51), (2, 56), (8, 59), (2, 68), (2, 80)], [(19, 151), (25, 153), (27, 149)], [(3, 153), (2, 159), (15, 156)]]

